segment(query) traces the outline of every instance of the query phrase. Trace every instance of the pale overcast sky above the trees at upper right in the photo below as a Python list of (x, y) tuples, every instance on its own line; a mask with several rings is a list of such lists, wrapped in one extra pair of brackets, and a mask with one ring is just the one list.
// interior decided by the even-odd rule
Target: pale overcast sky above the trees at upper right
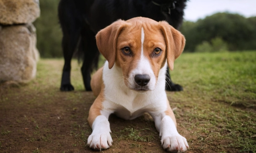
[(256, 16), (256, 0), (189, 0), (184, 18), (187, 21), (197, 21), (225, 11), (245, 17)]

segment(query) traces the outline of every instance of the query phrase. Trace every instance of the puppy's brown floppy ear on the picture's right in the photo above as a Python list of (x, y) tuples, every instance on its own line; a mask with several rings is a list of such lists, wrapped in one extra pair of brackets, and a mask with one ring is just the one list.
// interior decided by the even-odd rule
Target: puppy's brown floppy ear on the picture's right
[(170, 26), (166, 21), (160, 21), (159, 23), (165, 37), (167, 63), (169, 68), (173, 70), (174, 61), (181, 55), (186, 40), (178, 30)]

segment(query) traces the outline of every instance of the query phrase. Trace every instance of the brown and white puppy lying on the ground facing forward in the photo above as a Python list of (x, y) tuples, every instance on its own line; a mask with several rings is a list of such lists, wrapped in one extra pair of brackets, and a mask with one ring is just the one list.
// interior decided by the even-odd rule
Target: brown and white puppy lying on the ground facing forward
[(98, 150), (112, 146), (110, 114), (134, 119), (148, 112), (162, 147), (185, 152), (188, 143), (177, 132), (165, 92), (166, 66), (174, 68), (185, 46), (184, 36), (165, 21), (135, 17), (113, 22), (97, 33), (96, 41), (107, 61), (91, 80), (97, 98), (89, 111), (92, 134), (87, 144)]

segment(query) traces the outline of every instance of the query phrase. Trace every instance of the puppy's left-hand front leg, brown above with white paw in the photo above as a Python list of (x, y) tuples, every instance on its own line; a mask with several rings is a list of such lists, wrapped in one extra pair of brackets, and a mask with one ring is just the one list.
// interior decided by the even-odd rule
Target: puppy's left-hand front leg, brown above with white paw
[(108, 121), (108, 116), (111, 112), (106, 112), (102, 115), (103, 111), (99, 108), (100, 106), (99, 103), (94, 102), (90, 108), (88, 117), (92, 134), (88, 137), (87, 145), (96, 150), (107, 149), (112, 146), (113, 142), (110, 135), (110, 123)]

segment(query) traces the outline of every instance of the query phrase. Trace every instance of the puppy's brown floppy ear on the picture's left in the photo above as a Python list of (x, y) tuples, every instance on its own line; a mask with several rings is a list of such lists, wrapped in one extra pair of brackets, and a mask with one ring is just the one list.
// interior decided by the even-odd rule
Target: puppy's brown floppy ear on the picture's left
[(96, 35), (96, 43), (98, 50), (108, 61), (108, 68), (114, 66), (116, 60), (116, 42), (121, 30), (126, 26), (124, 20), (117, 20), (110, 26), (100, 30)]

